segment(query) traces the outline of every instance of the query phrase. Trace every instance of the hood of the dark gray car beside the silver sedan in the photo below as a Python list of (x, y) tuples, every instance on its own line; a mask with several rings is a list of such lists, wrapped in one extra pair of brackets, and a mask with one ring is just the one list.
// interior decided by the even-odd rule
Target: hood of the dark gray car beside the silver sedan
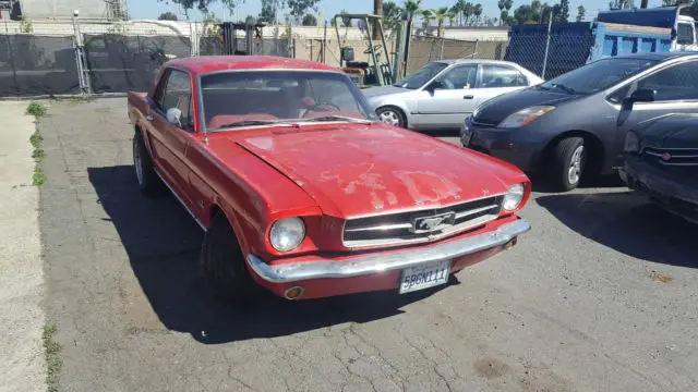
[(486, 103), (480, 106), (473, 120), (483, 124), (497, 125), (519, 110), (539, 105), (559, 105), (580, 97), (582, 96), (541, 89), (540, 87), (528, 87), (488, 100)]

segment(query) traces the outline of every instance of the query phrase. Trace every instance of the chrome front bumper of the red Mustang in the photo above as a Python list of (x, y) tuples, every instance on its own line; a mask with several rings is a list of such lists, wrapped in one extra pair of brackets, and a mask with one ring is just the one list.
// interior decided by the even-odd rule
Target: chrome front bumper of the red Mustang
[(431, 261), (453, 259), (507, 244), (531, 225), (524, 219), (501, 225), (497, 230), (444, 244), (406, 248), (380, 255), (365, 255), (346, 260), (313, 260), (270, 266), (254, 255), (248, 265), (265, 281), (291, 283), (310, 279), (352, 278), (413, 267)]

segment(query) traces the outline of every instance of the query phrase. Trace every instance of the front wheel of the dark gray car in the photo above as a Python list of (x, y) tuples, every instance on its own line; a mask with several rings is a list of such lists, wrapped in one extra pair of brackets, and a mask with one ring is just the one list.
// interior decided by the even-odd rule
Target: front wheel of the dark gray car
[(567, 137), (559, 140), (552, 155), (551, 185), (567, 192), (579, 185), (587, 161), (585, 139)]

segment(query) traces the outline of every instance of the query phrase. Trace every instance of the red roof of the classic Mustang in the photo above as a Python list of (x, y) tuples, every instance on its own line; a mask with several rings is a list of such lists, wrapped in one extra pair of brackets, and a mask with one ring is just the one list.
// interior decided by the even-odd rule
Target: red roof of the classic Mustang
[(338, 69), (320, 62), (275, 56), (198, 56), (170, 60), (166, 66), (177, 66), (194, 74), (228, 70), (320, 70)]

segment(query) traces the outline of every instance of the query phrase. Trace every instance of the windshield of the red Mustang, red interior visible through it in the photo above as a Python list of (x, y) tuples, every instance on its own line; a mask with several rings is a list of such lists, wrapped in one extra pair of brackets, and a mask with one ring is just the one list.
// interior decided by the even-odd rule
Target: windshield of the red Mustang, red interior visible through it
[(291, 121), (376, 120), (344, 74), (317, 71), (222, 72), (201, 79), (208, 131)]

